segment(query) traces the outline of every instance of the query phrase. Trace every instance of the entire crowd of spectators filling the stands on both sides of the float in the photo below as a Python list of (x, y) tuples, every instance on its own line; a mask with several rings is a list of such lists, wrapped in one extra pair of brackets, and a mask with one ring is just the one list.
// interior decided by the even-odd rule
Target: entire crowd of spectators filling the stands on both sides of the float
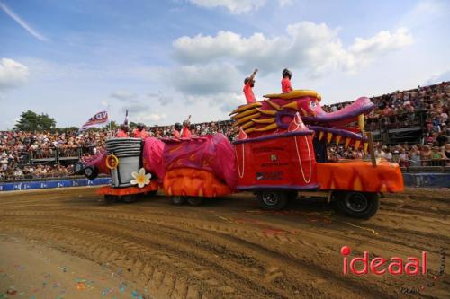
[[(450, 158), (447, 128), (450, 82), (418, 87), (409, 91), (397, 91), (373, 97), (373, 110), (366, 118), (366, 130), (381, 128), (406, 128), (425, 123), (425, 136), (420, 145), (376, 145), (376, 158), (398, 162), (401, 166), (448, 165)], [(351, 102), (322, 106), (328, 112), (341, 110)], [(422, 114), (419, 114), (422, 113)], [(424, 119), (420, 119), (420, 118)], [(237, 131), (232, 120), (192, 124), (193, 136), (222, 133), (232, 140)], [(149, 136), (171, 137), (174, 126), (146, 128)], [(82, 133), (67, 132), (0, 132), (0, 180), (5, 178), (35, 178), (72, 174), (72, 165), (62, 163), (26, 163), (30, 158), (39, 161), (54, 157), (82, 157), (87, 160), (104, 146), (107, 137), (114, 136), (109, 129), (87, 130)], [(364, 156), (363, 150), (343, 146), (329, 147), (331, 160), (356, 159)], [(446, 160), (447, 159), (447, 160)]]

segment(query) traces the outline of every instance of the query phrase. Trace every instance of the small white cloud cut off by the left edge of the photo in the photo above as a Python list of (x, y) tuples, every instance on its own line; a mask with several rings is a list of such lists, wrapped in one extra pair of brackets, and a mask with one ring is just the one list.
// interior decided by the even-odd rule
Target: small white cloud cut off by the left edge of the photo
[(27, 66), (9, 58), (0, 60), (0, 92), (25, 84), (30, 72)]

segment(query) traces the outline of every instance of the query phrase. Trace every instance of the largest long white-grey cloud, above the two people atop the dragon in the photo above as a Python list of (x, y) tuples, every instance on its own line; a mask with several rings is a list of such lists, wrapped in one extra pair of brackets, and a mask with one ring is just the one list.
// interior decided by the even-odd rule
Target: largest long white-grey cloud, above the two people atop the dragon
[(184, 65), (229, 61), (240, 69), (261, 73), (279, 71), (286, 66), (302, 68), (312, 76), (332, 70), (355, 72), (374, 58), (410, 45), (410, 32), (401, 28), (393, 33), (381, 31), (372, 38), (356, 38), (345, 48), (338, 29), (325, 23), (299, 22), (287, 26), (284, 35), (266, 37), (255, 33), (246, 38), (231, 31), (216, 36), (181, 37), (174, 41), (175, 58)]

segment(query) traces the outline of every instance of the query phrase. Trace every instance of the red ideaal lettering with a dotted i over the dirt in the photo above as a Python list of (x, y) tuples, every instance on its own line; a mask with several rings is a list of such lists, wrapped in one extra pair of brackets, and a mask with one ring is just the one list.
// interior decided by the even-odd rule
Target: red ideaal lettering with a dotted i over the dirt
[[(355, 275), (365, 275), (369, 271), (375, 275), (383, 275), (386, 272), (391, 275), (407, 274), (411, 276), (427, 274), (427, 251), (422, 251), (421, 259), (412, 257), (407, 258), (405, 261), (398, 257), (392, 257), (390, 260), (377, 257), (369, 261), (369, 251), (365, 251), (363, 258), (356, 257), (351, 259), (350, 262), (348, 262), (347, 258), (351, 252), (350, 247), (343, 246), (340, 252), (344, 256), (344, 275), (347, 275), (349, 272)], [(360, 264), (363, 267), (356, 269), (356, 264)], [(385, 268), (385, 266), (388, 267)]]

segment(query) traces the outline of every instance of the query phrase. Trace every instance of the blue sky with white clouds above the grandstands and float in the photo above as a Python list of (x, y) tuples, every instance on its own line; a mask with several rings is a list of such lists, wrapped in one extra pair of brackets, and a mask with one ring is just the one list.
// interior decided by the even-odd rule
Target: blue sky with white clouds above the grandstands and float
[(255, 93), (351, 101), (450, 79), (448, 1), (0, 0), (0, 129), (23, 110), (58, 127), (99, 110), (166, 125), (228, 119)]

